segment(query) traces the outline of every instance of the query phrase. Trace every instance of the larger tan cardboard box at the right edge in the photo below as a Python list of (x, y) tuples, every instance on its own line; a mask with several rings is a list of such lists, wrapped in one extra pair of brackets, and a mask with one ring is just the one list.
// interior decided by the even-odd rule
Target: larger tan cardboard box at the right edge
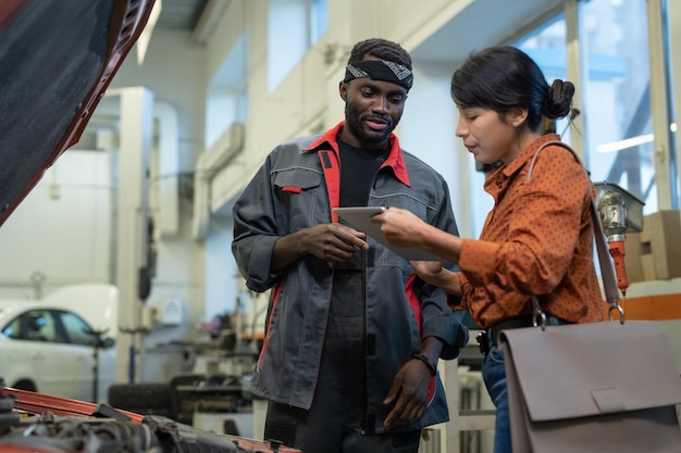
[[(630, 235), (627, 235), (628, 239)], [(681, 277), (680, 211), (659, 211), (646, 215), (639, 239), (637, 252), (641, 255), (641, 267), (645, 280), (668, 280)], [(626, 248), (628, 242), (629, 240), (624, 243)], [(626, 249), (626, 253), (627, 251)]]

